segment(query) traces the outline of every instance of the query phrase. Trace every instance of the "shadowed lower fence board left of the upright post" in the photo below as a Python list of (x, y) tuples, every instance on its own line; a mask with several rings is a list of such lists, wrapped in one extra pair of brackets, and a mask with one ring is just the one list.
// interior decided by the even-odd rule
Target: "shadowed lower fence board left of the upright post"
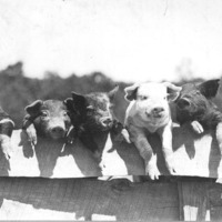
[(178, 221), (176, 183), (0, 180), (1, 220)]

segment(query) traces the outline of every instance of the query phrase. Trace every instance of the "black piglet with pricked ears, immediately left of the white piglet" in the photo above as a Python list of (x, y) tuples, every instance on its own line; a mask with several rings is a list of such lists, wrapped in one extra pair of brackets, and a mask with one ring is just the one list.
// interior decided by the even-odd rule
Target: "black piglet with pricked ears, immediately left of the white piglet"
[(118, 134), (121, 124), (114, 120), (111, 110), (119, 87), (112, 91), (92, 92), (85, 95), (72, 92), (64, 101), (70, 111), (72, 124), (82, 143), (100, 160), (109, 132)]

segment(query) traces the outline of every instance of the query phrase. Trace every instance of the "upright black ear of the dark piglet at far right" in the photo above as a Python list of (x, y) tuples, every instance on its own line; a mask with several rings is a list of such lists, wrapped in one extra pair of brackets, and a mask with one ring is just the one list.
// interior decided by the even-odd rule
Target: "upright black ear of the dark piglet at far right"
[(209, 80), (198, 85), (201, 94), (210, 99), (216, 95), (220, 85), (220, 79)]

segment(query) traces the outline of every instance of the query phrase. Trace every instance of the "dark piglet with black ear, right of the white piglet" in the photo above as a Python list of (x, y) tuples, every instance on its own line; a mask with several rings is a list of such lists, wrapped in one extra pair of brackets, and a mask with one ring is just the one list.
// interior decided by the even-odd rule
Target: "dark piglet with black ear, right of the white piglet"
[(218, 93), (220, 80), (182, 85), (176, 100), (176, 120), (180, 124), (190, 122), (193, 130), (215, 130), (216, 140), (222, 154), (222, 113), (211, 101)]

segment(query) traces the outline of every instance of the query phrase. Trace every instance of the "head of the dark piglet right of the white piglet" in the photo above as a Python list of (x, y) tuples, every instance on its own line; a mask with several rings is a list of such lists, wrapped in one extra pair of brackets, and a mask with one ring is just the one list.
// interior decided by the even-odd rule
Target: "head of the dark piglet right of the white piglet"
[(210, 99), (216, 95), (219, 85), (219, 79), (182, 85), (175, 100), (178, 121), (182, 124), (186, 121), (202, 120), (213, 109)]

